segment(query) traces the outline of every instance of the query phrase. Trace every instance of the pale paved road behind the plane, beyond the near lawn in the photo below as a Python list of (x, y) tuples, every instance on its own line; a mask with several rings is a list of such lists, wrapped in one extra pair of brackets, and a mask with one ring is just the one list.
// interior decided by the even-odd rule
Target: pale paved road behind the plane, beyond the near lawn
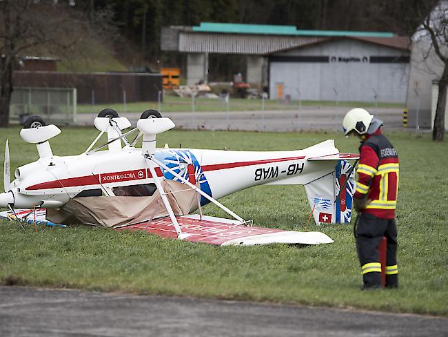
[[(212, 111), (164, 113), (170, 117), (176, 128), (201, 130), (241, 130), (241, 131), (298, 131), (298, 130), (342, 130), (345, 113), (351, 107), (307, 106), (301, 110), (269, 111)], [(374, 109), (371, 109), (374, 113)], [(96, 113), (80, 113), (77, 124), (93, 125)], [(136, 124), (141, 113), (120, 113), (128, 117), (132, 125)], [(403, 111), (399, 108), (380, 108), (376, 116), (385, 122), (388, 129), (401, 128)]]

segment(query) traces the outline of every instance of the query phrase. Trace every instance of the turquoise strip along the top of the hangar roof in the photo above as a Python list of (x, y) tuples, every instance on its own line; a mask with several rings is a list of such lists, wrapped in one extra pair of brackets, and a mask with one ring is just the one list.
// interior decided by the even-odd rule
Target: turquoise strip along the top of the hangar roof
[(201, 22), (192, 27), (193, 32), (218, 32), (227, 34), (295, 35), (304, 37), (394, 37), (391, 32), (354, 32), (347, 30), (298, 30), (296, 26), (253, 25), (245, 23)]

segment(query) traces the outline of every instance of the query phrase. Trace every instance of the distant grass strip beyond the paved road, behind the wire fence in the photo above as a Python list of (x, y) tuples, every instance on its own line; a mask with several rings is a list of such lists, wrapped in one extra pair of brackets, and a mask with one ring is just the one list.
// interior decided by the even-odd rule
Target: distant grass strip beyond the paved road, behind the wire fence
[[(303, 101), (303, 106), (336, 106), (334, 101)], [(196, 111), (225, 111), (227, 106), (221, 99), (206, 99), (199, 98), (194, 103)], [(298, 101), (292, 101), (289, 105), (285, 105), (279, 101), (266, 99), (265, 110), (297, 110), (299, 106)], [(366, 102), (339, 102), (339, 106), (362, 106), (363, 108), (373, 108), (374, 103)], [(380, 108), (404, 108), (403, 104), (399, 103), (379, 103)], [(113, 108), (120, 113), (124, 112), (124, 105), (119, 104), (80, 104), (77, 106), (78, 113), (98, 113), (103, 108)], [(157, 102), (134, 102), (126, 104), (126, 112), (128, 113), (141, 113), (147, 109), (159, 109)], [(161, 111), (174, 112), (174, 111), (191, 111), (192, 99), (176, 96), (165, 96), (161, 103)], [(241, 99), (231, 98), (229, 103), (230, 111), (253, 111), (261, 110), (261, 99)]]

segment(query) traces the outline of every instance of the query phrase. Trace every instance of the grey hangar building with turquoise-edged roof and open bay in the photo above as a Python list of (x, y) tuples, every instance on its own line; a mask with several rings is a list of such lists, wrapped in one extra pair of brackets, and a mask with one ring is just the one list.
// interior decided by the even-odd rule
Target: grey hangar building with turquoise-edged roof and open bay
[(201, 23), (162, 30), (162, 50), (187, 53), (187, 84), (207, 81), (208, 55), (247, 60), (247, 81), (272, 99), (405, 102), (409, 39), (387, 32)]

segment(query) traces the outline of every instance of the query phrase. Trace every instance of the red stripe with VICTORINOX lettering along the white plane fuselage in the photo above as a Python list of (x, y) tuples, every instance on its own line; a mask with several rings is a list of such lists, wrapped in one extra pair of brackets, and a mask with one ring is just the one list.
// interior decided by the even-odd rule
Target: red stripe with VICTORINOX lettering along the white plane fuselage
[[(236, 168), (236, 167), (243, 167), (243, 166), (260, 165), (260, 164), (270, 164), (270, 163), (275, 163), (275, 162), (287, 162), (288, 160), (299, 160), (299, 159), (303, 159), (303, 158), (305, 158), (305, 156), (276, 158), (276, 159), (267, 159), (267, 160), (254, 160), (252, 162), (234, 162), (234, 163), (212, 164), (212, 165), (202, 166), (202, 170), (204, 172), (217, 171), (217, 170), (224, 170), (227, 168)], [(144, 170), (144, 168), (141, 168), (141, 169)], [(134, 173), (137, 171), (140, 171), (140, 170), (102, 173), (101, 175), (103, 175), (103, 174), (104, 175), (124, 175), (126, 173)], [(157, 173), (158, 177), (163, 176), (162, 171), (159, 167), (156, 167), (156, 173)], [(146, 175), (147, 175), (148, 179), (152, 178), (149, 168), (146, 168)], [(73, 178), (66, 178), (66, 179), (61, 179), (61, 180), (53, 180), (52, 182), (41, 182), (40, 184), (28, 186), (26, 188), (26, 191), (34, 191), (34, 190), (41, 190), (41, 189), (61, 189), (63, 187), (74, 187), (74, 186), (99, 185), (100, 184), (99, 177), (100, 177), (100, 175), (96, 174), (96, 175), (85, 175), (83, 177), (73, 177)], [(130, 178), (128, 180), (139, 180), (139, 177), (137, 175), (136, 179)], [(121, 180), (121, 181), (123, 181), (123, 180)]]

